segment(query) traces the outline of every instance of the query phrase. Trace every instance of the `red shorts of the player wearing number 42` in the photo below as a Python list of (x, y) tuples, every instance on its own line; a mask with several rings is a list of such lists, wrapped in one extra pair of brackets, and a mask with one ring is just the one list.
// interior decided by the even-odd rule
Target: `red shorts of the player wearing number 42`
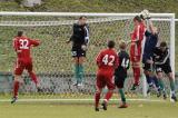
[(98, 72), (96, 86), (97, 88), (100, 89), (107, 86), (109, 90), (113, 90), (115, 89), (113, 75), (111, 72)]

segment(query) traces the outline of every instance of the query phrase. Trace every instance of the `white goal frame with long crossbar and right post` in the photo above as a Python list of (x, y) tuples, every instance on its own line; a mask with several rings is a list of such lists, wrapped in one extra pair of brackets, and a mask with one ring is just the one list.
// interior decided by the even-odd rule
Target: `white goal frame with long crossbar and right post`
[[(36, 16), (36, 17), (127, 17), (134, 18), (139, 13), (96, 13), (96, 12), (0, 12), (0, 16)], [(175, 13), (150, 13), (154, 21), (169, 21), (170, 22), (170, 59), (171, 68), (175, 75)], [(147, 82), (144, 82), (144, 96), (147, 96)]]

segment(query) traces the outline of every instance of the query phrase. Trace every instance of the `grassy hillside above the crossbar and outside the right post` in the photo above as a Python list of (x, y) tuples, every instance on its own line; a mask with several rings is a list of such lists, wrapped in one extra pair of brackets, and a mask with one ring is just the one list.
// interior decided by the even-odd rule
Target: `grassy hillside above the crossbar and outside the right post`
[[(19, 0), (16, 0), (19, 1)], [(0, 1), (1, 11), (57, 11), (57, 12), (175, 12), (178, 14), (178, 0), (42, 0), (40, 7), (24, 8), (14, 0)], [(178, 18), (178, 16), (176, 16)], [(177, 27), (178, 28), (178, 22)], [(176, 30), (178, 31), (178, 30)], [(178, 33), (176, 39), (178, 38)], [(176, 40), (176, 43), (178, 41)], [(176, 47), (178, 59), (178, 47)], [(178, 62), (176, 63), (178, 67)], [(176, 68), (178, 71), (178, 68)]]

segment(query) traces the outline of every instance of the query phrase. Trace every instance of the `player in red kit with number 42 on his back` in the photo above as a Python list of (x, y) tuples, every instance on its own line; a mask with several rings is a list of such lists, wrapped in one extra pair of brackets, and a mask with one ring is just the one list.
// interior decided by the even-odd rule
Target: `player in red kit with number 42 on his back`
[(111, 98), (115, 89), (113, 72), (119, 65), (117, 52), (113, 50), (115, 41), (108, 41), (108, 49), (102, 50), (96, 61), (98, 66), (95, 104), (96, 111), (99, 111), (99, 100), (102, 88), (108, 87), (108, 92), (102, 102), (103, 110), (107, 110), (107, 102)]

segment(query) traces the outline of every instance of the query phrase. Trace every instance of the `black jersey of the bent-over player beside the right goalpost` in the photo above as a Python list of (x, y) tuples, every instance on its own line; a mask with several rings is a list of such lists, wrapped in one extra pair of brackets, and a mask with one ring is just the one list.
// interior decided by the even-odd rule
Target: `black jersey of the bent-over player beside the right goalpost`
[(169, 48), (166, 48), (166, 50), (162, 52), (160, 47), (155, 48), (154, 50), (154, 61), (156, 66), (169, 66), (170, 65), (170, 52)]

